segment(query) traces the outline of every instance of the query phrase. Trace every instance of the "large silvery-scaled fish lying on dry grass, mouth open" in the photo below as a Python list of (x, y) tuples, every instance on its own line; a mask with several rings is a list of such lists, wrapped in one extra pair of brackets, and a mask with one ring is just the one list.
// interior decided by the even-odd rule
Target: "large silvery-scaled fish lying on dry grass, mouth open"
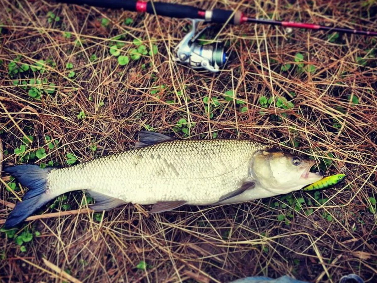
[(246, 139), (181, 140), (141, 131), (128, 151), (64, 168), (23, 164), (4, 168), (29, 190), (9, 214), (11, 228), (61, 194), (86, 190), (94, 211), (127, 203), (150, 213), (182, 205), (220, 205), (286, 194), (314, 183), (314, 160)]

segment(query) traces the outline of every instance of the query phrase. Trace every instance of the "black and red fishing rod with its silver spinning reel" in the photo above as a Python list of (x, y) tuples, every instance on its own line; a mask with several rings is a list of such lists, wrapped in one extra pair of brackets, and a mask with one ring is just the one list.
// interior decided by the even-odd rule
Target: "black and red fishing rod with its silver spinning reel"
[(363, 31), (349, 28), (339, 28), (335, 26), (321, 26), (312, 23), (285, 22), (276, 20), (266, 20), (247, 17), (241, 11), (231, 11), (224, 9), (203, 10), (189, 5), (163, 3), (163, 2), (143, 2), (135, 0), (56, 0), (68, 4), (89, 5), (110, 9), (124, 9), (133, 12), (146, 12), (172, 18), (190, 18), (192, 20), (192, 30), (179, 42), (175, 60), (189, 65), (193, 69), (203, 68), (211, 72), (218, 72), (224, 66), (228, 56), (221, 43), (200, 45), (197, 42), (199, 36), (205, 31), (196, 34), (198, 22), (221, 23), (241, 25), (244, 23), (257, 23), (273, 26), (284, 26), (290, 28), (313, 29), (320, 31), (342, 32), (346, 34), (360, 34), (367, 36), (377, 36), (375, 31)]

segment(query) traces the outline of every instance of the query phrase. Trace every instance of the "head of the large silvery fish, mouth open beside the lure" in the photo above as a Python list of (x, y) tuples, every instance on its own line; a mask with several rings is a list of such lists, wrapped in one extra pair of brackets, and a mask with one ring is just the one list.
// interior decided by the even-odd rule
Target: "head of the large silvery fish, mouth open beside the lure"
[(319, 172), (310, 172), (314, 164), (314, 160), (281, 151), (261, 151), (254, 155), (251, 175), (268, 191), (287, 194), (323, 178)]

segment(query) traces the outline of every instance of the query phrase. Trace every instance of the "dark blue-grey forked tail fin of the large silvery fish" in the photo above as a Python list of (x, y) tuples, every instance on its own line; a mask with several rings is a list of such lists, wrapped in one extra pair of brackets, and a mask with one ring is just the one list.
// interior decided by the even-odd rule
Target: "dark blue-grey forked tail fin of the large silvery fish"
[(40, 168), (38, 165), (23, 164), (4, 168), (4, 172), (17, 178), (21, 185), (29, 190), (18, 202), (8, 219), (5, 228), (11, 228), (25, 220), (29, 215), (56, 197), (48, 191), (47, 176), (52, 168)]

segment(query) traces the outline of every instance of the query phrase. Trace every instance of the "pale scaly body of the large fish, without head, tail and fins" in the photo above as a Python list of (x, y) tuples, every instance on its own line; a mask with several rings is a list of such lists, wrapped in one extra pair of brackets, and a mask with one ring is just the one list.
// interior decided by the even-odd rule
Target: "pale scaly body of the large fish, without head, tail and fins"
[(267, 146), (248, 140), (174, 140), (52, 169), (52, 195), (88, 189), (125, 202), (185, 200), (207, 205), (248, 178), (252, 156)]

